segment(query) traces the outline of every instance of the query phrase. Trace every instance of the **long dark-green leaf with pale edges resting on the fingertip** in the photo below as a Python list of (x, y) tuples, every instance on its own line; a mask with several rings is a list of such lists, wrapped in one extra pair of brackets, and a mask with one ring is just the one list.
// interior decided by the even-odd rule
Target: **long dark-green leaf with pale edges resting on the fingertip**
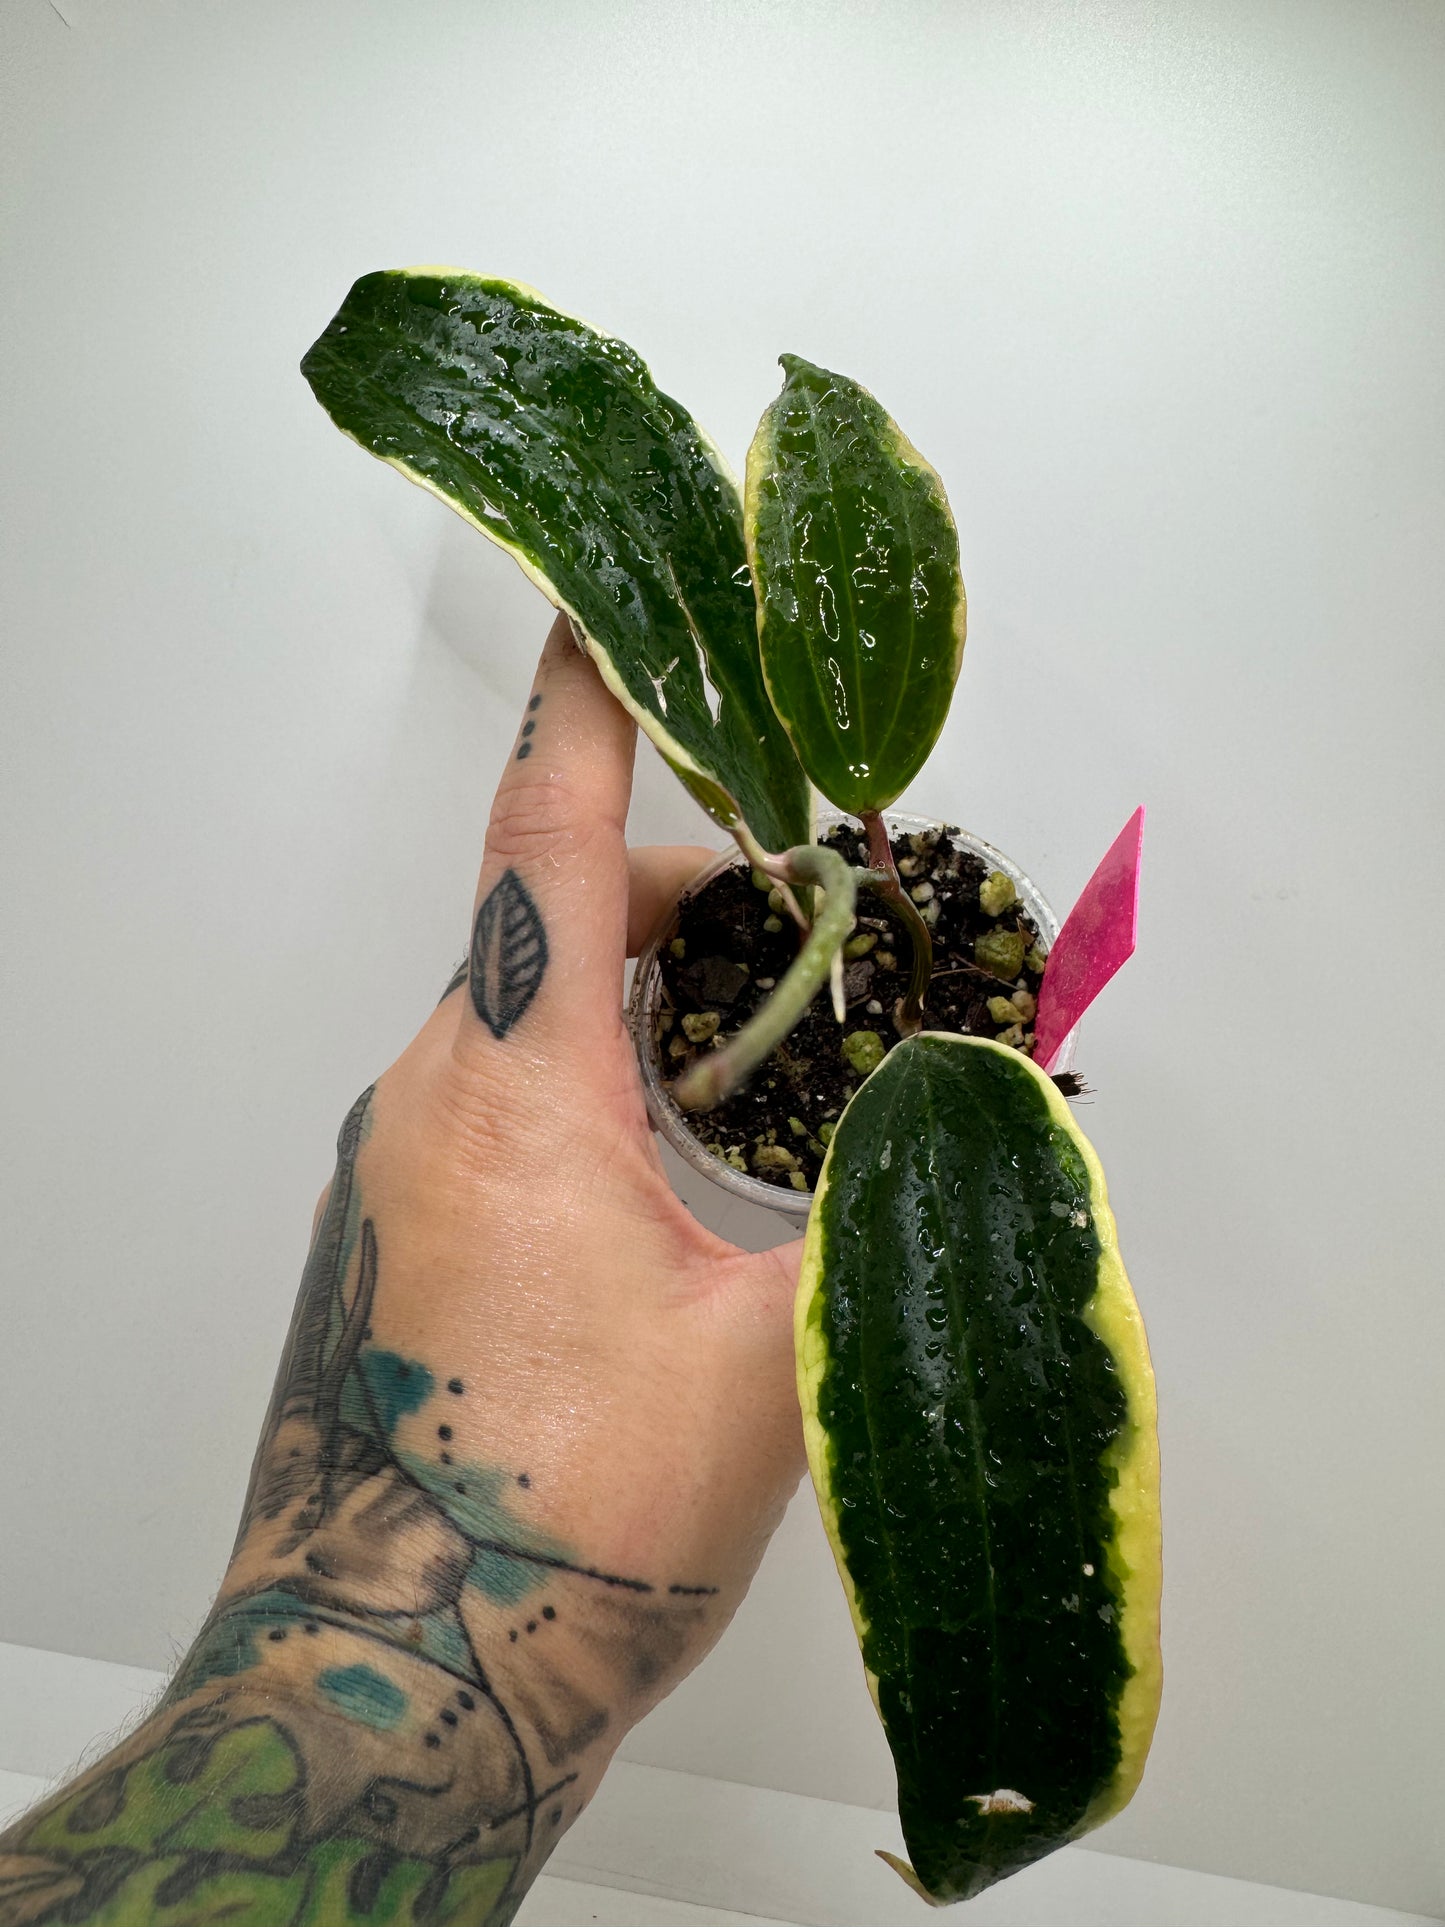
[(622, 341), (528, 287), (368, 274), (302, 374), (337, 428), (509, 549), (721, 823), (811, 838), (763, 688), (734, 480)]

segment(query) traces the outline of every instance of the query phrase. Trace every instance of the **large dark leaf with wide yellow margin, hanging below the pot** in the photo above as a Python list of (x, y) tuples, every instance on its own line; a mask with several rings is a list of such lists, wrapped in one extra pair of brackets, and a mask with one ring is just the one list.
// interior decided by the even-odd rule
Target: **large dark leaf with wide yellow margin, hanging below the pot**
[(923, 1033), (859, 1087), (796, 1335), (894, 1865), (965, 1900), (1129, 1800), (1160, 1698), (1148, 1345), (1104, 1174), (1027, 1058)]

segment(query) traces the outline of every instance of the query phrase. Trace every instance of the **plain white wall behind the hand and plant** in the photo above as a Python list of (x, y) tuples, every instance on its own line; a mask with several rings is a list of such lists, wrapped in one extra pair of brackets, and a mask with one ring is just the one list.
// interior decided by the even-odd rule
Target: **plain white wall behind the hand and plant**
[[(875, 385), (973, 613), (911, 802), (1062, 908), (1148, 802), (1081, 1062), (1169, 1676), (1096, 1844), (1445, 1912), (1445, 12), (4, 0), (0, 125), (0, 1638), (195, 1628), (337, 1120), (464, 940), (543, 609), (295, 372), (455, 260), (734, 457), (780, 349)], [(888, 1802), (807, 1495), (630, 1754)]]

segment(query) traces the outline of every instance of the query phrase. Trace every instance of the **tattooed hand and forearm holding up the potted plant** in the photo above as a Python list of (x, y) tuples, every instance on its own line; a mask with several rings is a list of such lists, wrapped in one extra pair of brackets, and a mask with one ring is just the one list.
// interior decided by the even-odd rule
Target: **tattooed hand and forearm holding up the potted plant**
[[(443, 1910), (418, 1919), (511, 1917), (724, 1628), (803, 1468), (798, 1247), (742, 1253), (678, 1202), (620, 1016), (626, 950), (707, 856), (628, 865), (632, 750), (559, 619), (468, 973), (343, 1125), (218, 1605), (96, 1769), (125, 1794), (112, 1829), (170, 1844), (139, 1788), (241, 1773), (256, 1856), (262, 1821), (285, 1833), (254, 1877), (345, 1887), (306, 1919), (368, 1917), (403, 1867)], [(4, 1867), (0, 1927), (39, 1917), (6, 1912)]]

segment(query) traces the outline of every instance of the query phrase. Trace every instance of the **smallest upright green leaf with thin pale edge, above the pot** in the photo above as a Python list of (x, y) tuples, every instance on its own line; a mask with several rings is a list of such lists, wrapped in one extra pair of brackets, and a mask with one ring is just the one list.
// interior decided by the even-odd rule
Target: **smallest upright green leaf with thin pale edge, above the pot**
[(748, 451), (763, 673), (838, 809), (892, 804), (944, 726), (963, 576), (944, 486), (857, 382), (784, 355)]

